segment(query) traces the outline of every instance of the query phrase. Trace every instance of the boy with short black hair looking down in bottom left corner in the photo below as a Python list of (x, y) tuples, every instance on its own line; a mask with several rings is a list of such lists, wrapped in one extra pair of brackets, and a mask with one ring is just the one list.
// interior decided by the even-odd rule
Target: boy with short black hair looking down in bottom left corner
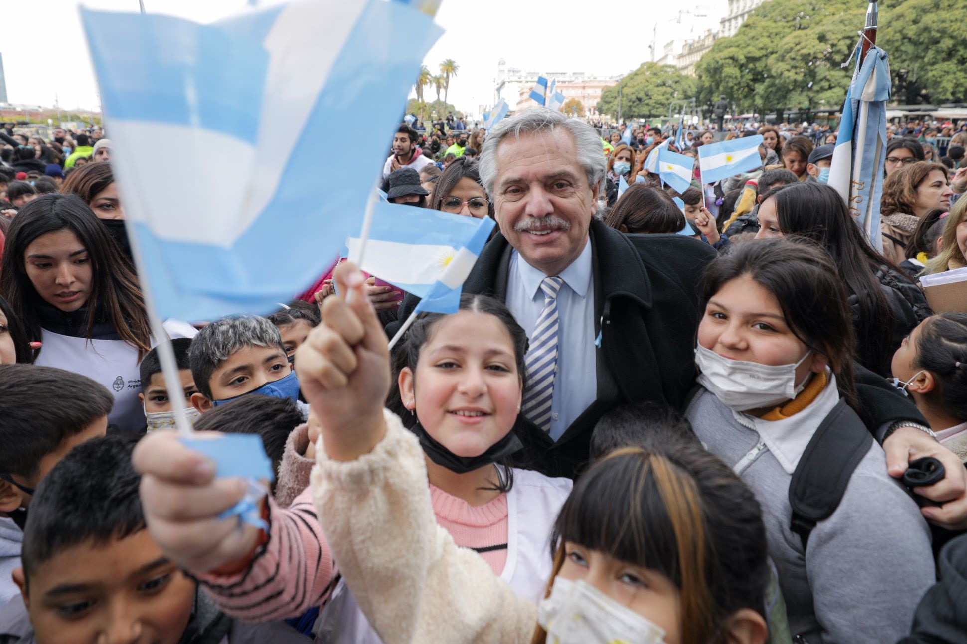
[(195, 582), (145, 530), (134, 439), (89, 441), (44, 479), (14, 572), (21, 598), (0, 610), (0, 644), (306, 642), (284, 624), (242, 624), (198, 603)]

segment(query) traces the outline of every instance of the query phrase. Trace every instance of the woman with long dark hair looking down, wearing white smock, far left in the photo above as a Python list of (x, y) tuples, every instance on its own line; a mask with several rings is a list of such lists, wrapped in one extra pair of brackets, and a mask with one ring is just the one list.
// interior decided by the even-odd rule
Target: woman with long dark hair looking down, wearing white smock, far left
[(0, 294), (27, 336), (43, 342), (35, 364), (100, 382), (114, 394), (108, 421), (144, 426), (137, 364), (154, 344), (148, 314), (131, 267), (79, 197), (45, 194), (17, 214)]

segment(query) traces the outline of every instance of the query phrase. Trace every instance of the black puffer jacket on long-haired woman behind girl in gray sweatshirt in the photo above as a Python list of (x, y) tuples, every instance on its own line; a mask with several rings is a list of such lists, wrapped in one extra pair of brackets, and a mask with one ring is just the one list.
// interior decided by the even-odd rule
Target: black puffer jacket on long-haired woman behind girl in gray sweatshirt
[[(917, 284), (905, 278), (894, 268), (881, 266), (876, 272), (876, 278), (880, 281), (883, 294), (887, 297), (887, 302), (894, 311), (893, 331), (890, 336), (890, 345), (880, 347), (875, 355), (859, 355), (859, 362), (880, 375), (890, 375), (890, 364), (894, 359), (894, 352), (899, 347), (903, 337), (910, 334), (918, 324), (929, 317), (933, 311), (926, 304), (923, 291)], [(860, 330), (860, 299), (856, 294), (849, 296), (849, 305), (853, 310), (853, 328), (857, 331), (857, 336), (861, 335)]]

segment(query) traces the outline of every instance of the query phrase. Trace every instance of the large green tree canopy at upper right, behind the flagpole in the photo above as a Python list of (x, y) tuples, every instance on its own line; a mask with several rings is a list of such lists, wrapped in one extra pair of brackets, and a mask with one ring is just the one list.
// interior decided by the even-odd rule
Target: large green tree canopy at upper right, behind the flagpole
[[(864, 25), (854, 0), (772, 0), (698, 62), (698, 100), (724, 94), (741, 111), (838, 110), (853, 73)], [(967, 3), (894, 0), (881, 6), (877, 43), (890, 56), (894, 101), (967, 100)], [(843, 68), (841, 64), (849, 64)]]

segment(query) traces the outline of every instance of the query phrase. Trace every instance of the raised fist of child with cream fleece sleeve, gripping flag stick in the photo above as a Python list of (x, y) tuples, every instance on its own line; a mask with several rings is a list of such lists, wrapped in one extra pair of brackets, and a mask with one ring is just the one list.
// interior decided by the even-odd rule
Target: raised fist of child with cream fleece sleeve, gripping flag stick
[[(359, 269), (345, 262), (333, 277), (339, 296), (325, 300), (322, 323), (296, 350), (296, 372), (319, 420), (327, 454), (354, 460), (371, 451), (386, 432), (383, 405), (390, 391), (390, 352)], [(350, 291), (355, 294), (347, 303)]]

